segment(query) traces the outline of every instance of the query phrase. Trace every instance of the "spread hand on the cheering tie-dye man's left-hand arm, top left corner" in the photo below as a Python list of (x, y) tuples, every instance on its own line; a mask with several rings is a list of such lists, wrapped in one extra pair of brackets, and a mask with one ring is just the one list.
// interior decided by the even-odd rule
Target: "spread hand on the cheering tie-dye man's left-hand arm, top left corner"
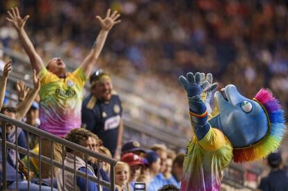
[(6, 19), (13, 23), (17, 31), (20, 31), (22, 28), (24, 28), (27, 19), (30, 17), (29, 15), (26, 15), (24, 18), (22, 18), (17, 7), (11, 8), (11, 10), (7, 11), (7, 13), (10, 17), (6, 17)]

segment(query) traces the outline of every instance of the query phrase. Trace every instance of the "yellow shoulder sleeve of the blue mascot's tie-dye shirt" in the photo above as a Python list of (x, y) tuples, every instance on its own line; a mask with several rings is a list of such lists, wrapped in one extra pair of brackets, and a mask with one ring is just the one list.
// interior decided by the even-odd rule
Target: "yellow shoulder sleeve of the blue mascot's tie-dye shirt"
[(207, 135), (198, 141), (198, 144), (207, 151), (216, 151), (225, 144), (225, 136), (217, 128), (210, 128)]

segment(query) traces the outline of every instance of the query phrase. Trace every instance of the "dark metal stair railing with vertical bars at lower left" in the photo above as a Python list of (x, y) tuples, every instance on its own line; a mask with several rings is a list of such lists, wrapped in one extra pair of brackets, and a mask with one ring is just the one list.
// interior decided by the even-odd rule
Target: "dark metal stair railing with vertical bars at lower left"
[[(115, 175), (115, 164), (117, 163), (117, 160), (114, 160), (113, 158), (109, 158), (107, 156), (104, 156), (102, 154), (99, 154), (99, 153), (96, 153), (95, 151), (92, 151), (90, 149), (87, 149), (85, 147), (82, 147), (81, 145), (79, 144), (75, 144), (74, 142), (70, 142), (68, 140), (65, 140), (63, 138), (59, 138), (57, 137), (56, 135), (52, 135), (51, 133), (47, 133), (46, 131), (42, 131), (38, 128), (35, 128), (33, 126), (30, 126), (29, 124), (25, 124), (23, 122), (19, 122), (15, 119), (12, 119), (10, 117), (7, 117), (6, 115), (2, 115), (0, 114), (0, 121), (2, 122), (2, 126), (1, 126), (1, 133), (2, 133), (2, 136), (1, 136), (1, 145), (2, 145), (2, 190), (6, 189), (7, 188), (7, 178), (6, 178), (6, 161), (7, 161), (7, 149), (13, 149), (15, 150), (16, 153), (24, 153), (28, 156), (28, 160), (29, 158), (33, 157), (33, 158), (38, 158), (39, 160), (39, 190), (41, 190), (41, 181), (42, 181), (42, 178), (41, 178), (41, 162), (44, 162), (44, 163), (47, 163), (50, 165), (50, 168), (51, 168), (51, 172), (53, 171), (53, 166), (55, 167), (58, 167), (59, 169), (63, 169), (62, 170), (62, 178), (63, 178), (63, 185), (62, 187), (65, 188), (65, 181), (64, 181), (64, 173), (65, 172), (70, 172), (72, 174), (74, 174), (74, 180), (76, 180), (76, 176), (79, 176), (79, 177), (82, 177), (82, 178), (86, 178), (86, 189), (88, 188), (88, 181), (93, 181), (95, 183), (97, 183), (97, 186), (98, 186), (98, 189), (99, 189), (99, 186), (102, 185), (106, 188), (110, 188), (110, 190), (115, 190), (115, 179), (114, 179), (114, 175)], [(15, 126), (15, 144), (13, 142), (8, 142), (7, 140), (7, 135), (6, 135), (6, 125), (7, 124), (12, 124), (13, 126)], [(19, 130), (19, 128), (22, 128), (23, 130), (25, 130), (28, 135), (31, 133), (31, 134), (34, 134), (34, 135), (38, 135), (39, 137), (39, 153), (34, 153), (33, 151), (31, 151), (31, 149), (28, 147), (27, 149), (24, 149), (22, 147), (19, 147), (17, 145), (17, 131), (21, 131), (21, 129)], [(97, 172), (95, 172), (95, 176), (90, 176), (88, 175), (88, 172), (86, 170), (86, 173), (84, 172), (81, 172), (79, 171), (78, 169), (76, 169), (76, 163), (75, 163), (75, 158), (76, 156), (74, 156), (74, 168), (72, 167), (68, 167), (66, 165), (64, 165), (64, 160), (62, 161), (62, 163), (59, 163), (57, 162), (56, 160), (53, 160), (53, 158), (49, 158), (49, 157), (46, 157), (46, 156), (42, 156), (41, 155), (41, 138), (45, 138), (47, 140), (50, 140), (51, 141), (51, 149), (53, 149), (53, 144), (54, 142), (55, 143), (58, 143), (58, 144), (62, 144), (62, 149), (64, 149), (64, 147), (69, 147), (70, 149), (73, 149), (73, 150), (76, 150), (76, 151), (79, 151), (81, 153), (84, 154), (85, 158), (87, 158), (88, 156), (90, 157), (93, 157), (93, 158), (97, 158), (98, 159), (98, 162), (97, 162)], [(28, 141), (28, 145), (29, 145), (29, 139), (27, 139)], [(48, 149), (48, 148), (47, 148)], [(53, 153), (53, 152), (51, 152)], [(64, 159), (64, 151), (62, 150), (62, 158)], [(103, 161), (103, 162), (106, 162), (110, 165), (111, 169), (110, 169), (110, 183), (109, 182), (106, 182), (102, 179), (100, 179), (99, 177), (99, 161)], [(18, 167), (18, 163), (19, 163), (19, 160), (17, 158), (17, 155), (16, 155), (16, 167)], [(88, 164), (88, 161), (85, 160), (85, 163), (86, 163), (86, 167), (87, 167), (87, 164)], [(29, 163), (28, 163), (29, 164)], [(29, 180), (29, 173), (30, 173), (30, 166), (27, 165), (27, 174), (28, 174), (28, 177), (27, 179)], [(16, 173), (18, 174), (18, 170), (16, 170)], [(16, 189), (18, 189), (18, 176), (16, 175)], [(52, 185), (53, 185), (53, 179), (51, 178), (51, 190), (53, 189), (52, 188)], [(28, 185), (27, 185), (27, 189), (29, 190), (29, 181), (28, 181)], [(74, 188), (75, 190), (77, 190), (77, 186), (76, 186), (76, 181), (74, 181)], [(65, 190), (65, 189), (63, 189)]]

